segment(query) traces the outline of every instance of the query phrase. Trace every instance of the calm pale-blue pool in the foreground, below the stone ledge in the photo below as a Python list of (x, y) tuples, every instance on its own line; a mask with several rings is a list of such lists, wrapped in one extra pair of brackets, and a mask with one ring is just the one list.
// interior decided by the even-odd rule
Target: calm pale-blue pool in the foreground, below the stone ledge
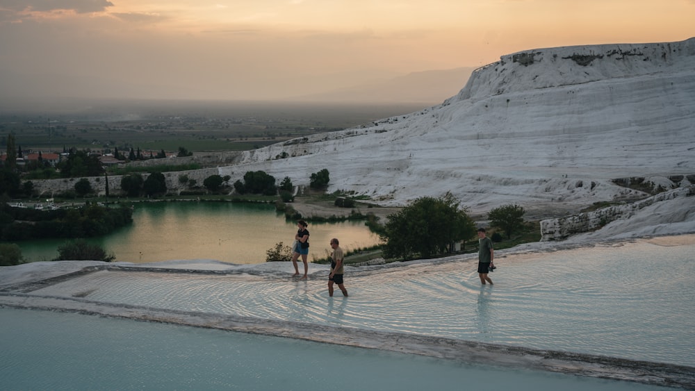
[(0, 308), (4, 390), (667, 390), (374, 349)]

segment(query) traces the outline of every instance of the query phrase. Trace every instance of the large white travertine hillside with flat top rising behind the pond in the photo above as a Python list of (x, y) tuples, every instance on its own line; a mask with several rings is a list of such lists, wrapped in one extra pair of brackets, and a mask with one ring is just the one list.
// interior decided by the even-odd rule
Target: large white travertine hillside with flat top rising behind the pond
[[(386, 206), (451, 192), (478, 212), (645, 197), (612, 180), (695, 173), (695, 39), (629, 46), (642, 57), (599, 56), (626, 44), (502, 56), (440, 105), (246, 151), (219, 172), (262, 169), (308, 185), (326, 168), (329, 192)], [(675, 54), (653, 54), (667, 51)], [(574, 54), (594, 58), (580, 65)]]

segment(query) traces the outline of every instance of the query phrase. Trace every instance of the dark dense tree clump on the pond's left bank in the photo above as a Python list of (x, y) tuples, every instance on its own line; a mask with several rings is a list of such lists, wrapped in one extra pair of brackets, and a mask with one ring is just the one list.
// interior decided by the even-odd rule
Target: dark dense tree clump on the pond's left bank
[(36, 210), (0, 204), (0, 240), (90, 238), (106, 235), (133, 222), (131, 208), (107, 208), (93, 203), (79, 208)]

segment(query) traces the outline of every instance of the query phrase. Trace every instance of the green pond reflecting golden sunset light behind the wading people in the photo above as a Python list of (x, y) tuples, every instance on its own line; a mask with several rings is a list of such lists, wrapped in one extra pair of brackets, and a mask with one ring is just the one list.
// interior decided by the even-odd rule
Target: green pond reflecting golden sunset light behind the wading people
[[(119, 262), (211, 259), (227, 263), (265, 262), (265, 251), (283, 242), (291, 245), (296, 223), (267, 204), (231, 202), (139, 203), (132, 226), (90, 238), (113, 252)], [(330, 238), (340, 238), (343, 249), (371, 247), (379, 238), (364, 222), (309, 224), (309, 260), (326, 258)], [(51, 260), (63, 240), (19, 243), (30, 261)]]

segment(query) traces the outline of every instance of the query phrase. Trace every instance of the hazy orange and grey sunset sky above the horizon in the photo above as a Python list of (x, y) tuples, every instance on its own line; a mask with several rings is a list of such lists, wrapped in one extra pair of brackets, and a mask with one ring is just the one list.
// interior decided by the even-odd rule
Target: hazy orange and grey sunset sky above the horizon
[(525, 49), (680, 41), (694, 20), (695, 0), (0, 0), (0, 95), (287, 97)]

